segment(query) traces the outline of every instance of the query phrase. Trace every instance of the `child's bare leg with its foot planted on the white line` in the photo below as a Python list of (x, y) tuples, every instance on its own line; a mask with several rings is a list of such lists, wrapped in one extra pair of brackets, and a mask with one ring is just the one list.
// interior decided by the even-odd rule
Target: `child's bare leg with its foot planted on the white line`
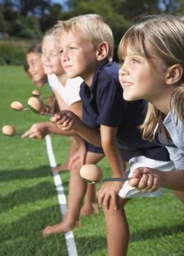
[[(103, 157), (102, 154), (97, 154), (93, 152), (87, 152), (86, 162), (95, 164)], [(54, 226), (46, 227), (43, 230), (43, 236), (47, 236), (52, 233), (68, 232), (73, 227), (75, 227), (77, 221), (79, 220), (79, 212), (81, 209), (82, 200), (86, 193), (86, 182), (79, 175), (80, 161), (77, 159), (74, 164), (72, 164), (70, 172), (70, 185), (68, 194), (68, 211), (66, 218), (63, 222), (56, 224)]]

